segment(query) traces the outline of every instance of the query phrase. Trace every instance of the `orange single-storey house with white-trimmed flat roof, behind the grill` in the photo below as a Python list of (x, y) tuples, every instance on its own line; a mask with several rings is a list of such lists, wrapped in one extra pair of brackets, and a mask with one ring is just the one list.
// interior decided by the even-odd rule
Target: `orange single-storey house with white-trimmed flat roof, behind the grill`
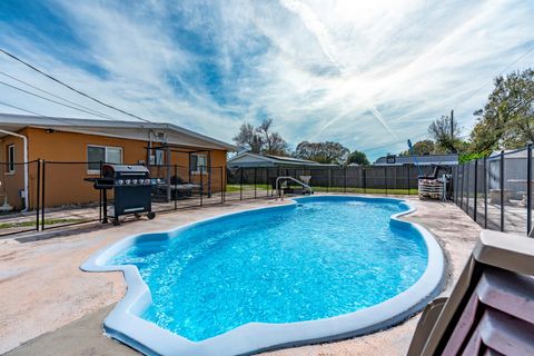
[(39, 188), (47, 207), (98, 201), (83, 179), (98, 177), (101, 162), (145, 165), (152, 177), (202, 179), (217, 191), (226, 184), (227, 152), (235, 150), (172, 123), (0, 113), (0, 205), (7, 198), (17, 209), (36, 207), (37, 160), (46, 161)]

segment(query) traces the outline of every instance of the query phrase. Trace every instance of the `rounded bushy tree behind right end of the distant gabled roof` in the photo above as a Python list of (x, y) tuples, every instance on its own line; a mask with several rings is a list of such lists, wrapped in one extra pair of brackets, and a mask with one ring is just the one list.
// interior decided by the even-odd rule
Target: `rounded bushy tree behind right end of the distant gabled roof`
[(349, 150), (339, 142), (308, 142), (297, 145), (294, 156), (319, 164), (343, 165), (347, 161)]

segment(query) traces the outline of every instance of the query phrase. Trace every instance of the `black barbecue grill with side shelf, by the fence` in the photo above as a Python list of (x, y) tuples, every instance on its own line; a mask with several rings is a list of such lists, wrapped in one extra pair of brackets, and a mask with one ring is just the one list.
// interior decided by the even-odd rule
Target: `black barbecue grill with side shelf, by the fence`
[(107, 221), (107, 190), (113, 190), (113, 224), (119, 225), (119, 216), (148, 212), (154, 219), (151, 205), (150, 172), (145, 166), (102, 165), (100, 178), (88, 179), (93, 181), (95, 189), (102, 190), (103, 222)]

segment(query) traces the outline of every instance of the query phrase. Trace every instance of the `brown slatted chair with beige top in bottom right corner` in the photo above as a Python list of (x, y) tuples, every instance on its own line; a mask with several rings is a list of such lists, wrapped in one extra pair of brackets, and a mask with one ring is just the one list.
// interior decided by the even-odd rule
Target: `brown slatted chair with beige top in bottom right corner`
[(534, 355), (534, 239), (484, 230), (448, 298), (423, 312), (408, 356)]

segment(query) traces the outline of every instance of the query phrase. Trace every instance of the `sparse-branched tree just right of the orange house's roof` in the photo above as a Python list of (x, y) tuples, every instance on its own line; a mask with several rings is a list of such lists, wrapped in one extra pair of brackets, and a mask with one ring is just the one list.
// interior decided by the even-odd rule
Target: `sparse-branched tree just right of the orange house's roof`
[(239, 127), (239, 132), (234, 137), (234, 141), (253, 154), (285, 156), (288, 145), (278, 132), (270, 130), (271, 125), (273, 119), (265, 119), (257, 128), (244, 122)]

